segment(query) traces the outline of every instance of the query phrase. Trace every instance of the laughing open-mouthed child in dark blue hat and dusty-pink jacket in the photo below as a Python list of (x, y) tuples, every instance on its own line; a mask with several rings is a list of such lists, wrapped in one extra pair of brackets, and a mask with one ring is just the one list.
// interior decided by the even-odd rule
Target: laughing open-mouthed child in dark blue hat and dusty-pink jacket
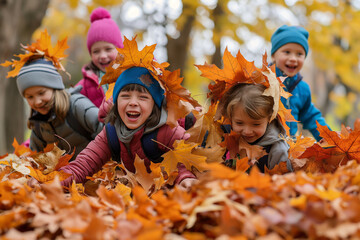
[[(115, 127), (117, 135), (115, 141), (120, 144), (118, 156), (126, 169), (133, 173), (136, 155), (144, 159), (147, 171), (151, 172), (150, 160), (144, 151), (146, 146), (143, 146), (142, 142), (145, 134), (157, 131), (157, 147), (163, 152), (167, 152), (175, 140), (188, 138), (182, 127), (171, 128), (166, 124), (164, 90), (146, 68), (132, 67), (120, 74), (114, 86), (113, 102), (114, 106), (106, 118), (108, 125), (75, 161), (60, 169), (72, 174), (62, 182), (63, 185), (67, 186), (73, 180), (84, 182), (86, 176), (93, 175), (110, 160), (112, 138), (108, 126)], [(195, 180), (195, 176), (183, 165), (178, 165), (178, 169), (176, 183), (188, 186), (189, 182)]]

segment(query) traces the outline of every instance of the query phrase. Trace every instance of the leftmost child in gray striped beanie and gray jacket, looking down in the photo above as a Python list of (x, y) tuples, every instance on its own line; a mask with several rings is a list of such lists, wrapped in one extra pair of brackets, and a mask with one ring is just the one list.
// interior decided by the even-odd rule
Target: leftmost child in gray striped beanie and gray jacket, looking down
[[(76, 155), (101, 131), (98, 108), (80, 94), (81, 87), (65, 90), (62, 77), (51, 61), (28, 61), (17, 76), (20, 94), (31, 108), (28, 127), (30, 148), (42, 151), (47, 144)], [(69, 149), (70, 148), (70, 149)]]

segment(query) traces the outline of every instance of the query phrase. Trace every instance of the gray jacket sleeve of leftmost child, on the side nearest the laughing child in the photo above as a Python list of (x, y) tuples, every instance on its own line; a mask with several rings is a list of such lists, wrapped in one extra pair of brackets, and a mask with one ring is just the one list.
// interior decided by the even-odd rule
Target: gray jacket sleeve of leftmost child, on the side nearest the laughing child
[(104, 127), (104, 124), (98, 119), (99, 109), (89, 98), (80, 93), (72, 94), (70, 99), (74, 116), (87, 131), (92, 133), (91, 136), (95, 138)]

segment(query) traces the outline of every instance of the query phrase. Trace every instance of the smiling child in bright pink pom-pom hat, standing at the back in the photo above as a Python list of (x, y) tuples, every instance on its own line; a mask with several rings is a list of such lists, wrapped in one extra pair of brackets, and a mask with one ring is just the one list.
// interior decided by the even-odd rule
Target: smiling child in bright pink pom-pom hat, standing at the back
[[(108, 84), (100, 87), (99, 83), (105, 74), (105, 68), (118, 54), (116, 48), (123, 48), (123, 42), (119, 27), (106, 9), (96, 8), (91, 13), (90, 21), (87, 48), (91, 62), (82, 68), (83, 79), (76, 86), (82, 85), (81, 93), (88, 97), (96, 107), (100, 107)], [(103, 117), (99, 115), (100, 119)]]

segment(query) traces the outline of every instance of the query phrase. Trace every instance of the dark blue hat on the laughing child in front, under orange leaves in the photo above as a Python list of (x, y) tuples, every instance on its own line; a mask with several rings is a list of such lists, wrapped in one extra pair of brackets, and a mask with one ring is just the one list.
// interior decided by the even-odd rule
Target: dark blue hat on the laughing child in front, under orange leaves
[(121, 89), (129, 84), (139, 84), (145, 87), (150, 92), (155, 104), (161, 108), (164, 99), (164, 90), (161, 88), (159, 82), (151, 76), (149, 70), (143, 67), (132, 67), (120, 74), (114, 86), (114, 103), (116, 103)]

